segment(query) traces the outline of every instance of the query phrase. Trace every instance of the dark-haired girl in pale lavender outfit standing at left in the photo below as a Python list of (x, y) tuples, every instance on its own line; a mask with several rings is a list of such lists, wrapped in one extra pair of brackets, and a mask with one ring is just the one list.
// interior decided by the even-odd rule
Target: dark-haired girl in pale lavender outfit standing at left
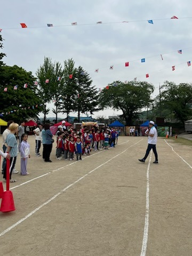
[(29, 175), (27, 172), (27, 159), (30, 158), (30, 146), (27, 142), (28, 135), (26, 133), (21, 136), (20, 153), (21, 153), (21, 175)]

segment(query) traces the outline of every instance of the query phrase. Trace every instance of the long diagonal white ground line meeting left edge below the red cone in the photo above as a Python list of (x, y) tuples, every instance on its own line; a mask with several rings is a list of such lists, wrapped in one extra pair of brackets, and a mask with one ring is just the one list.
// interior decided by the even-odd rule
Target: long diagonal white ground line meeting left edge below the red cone
[[(143, 140), (143, 139), (142, 139)], [(79, 182), (80, 180), (84, 179), (88, 174), (94, 172), (95, 170), (99, 169), (101, 166), (107, 164), (108, 162), (110, 162), (112, 159), (116, 158), (117, 156), (125, 153), (126, 150), (128, 150), (129, 148), (133, 147), (134, 145), (137, 145), (140, 141), (134, 143), (133, 145), (129, 146), (128, 148), (126, 148), (125, 150), (123, 150), (121, 153), (117, 154), (116, 156), (110, 158), (108, 161), (106, 161), (105, 163), (99, 165), (98, 167), (96, 167), (95, 169), (93, 169), (92, 171), (86, 173), (85, 175), (83, 175), (81, 178), (79, 178), (78, 180), (74, 181), (73, 183), (71, 183), (70, 185), (68, 185), (67, 187), (65, 187), (64, 189), (62, 189), (59, 193), (57, 193), (56, 195), (54, 195), (53, 197), (51, 197), (49, 200), (47, 200), (45, 203), (39, 205), (35, 210), (33, 210), (32, 212), (30, 212), (29, 214), (27, 214), (25, 217), (23, 217), (22, 219), (20, 219), (19, 221), (15, 222), (12, 226), (10, 226), (9, 228), (5, 229), (2, 233), (0, 233), (0, 237), (5, 235), (7, 232), (9, 232), (10, 230), (12, 230), (14, 227), (18, 226), (21, 222), (25, 221), (26, 219), (28, 219), (31, 215), (33, 215), (35, 212), (37, 212), (38, 210), (40, 210), (43, 206), (45, 206), (46, 204), (49, 204), (51, 201), (53, 201), (56, 197), (58, 197), (59, 195), (61, 195), (63, 192), (65, 192), (68, 188), (70, 188), (71, 186), (75, 185), (77, 182)]]

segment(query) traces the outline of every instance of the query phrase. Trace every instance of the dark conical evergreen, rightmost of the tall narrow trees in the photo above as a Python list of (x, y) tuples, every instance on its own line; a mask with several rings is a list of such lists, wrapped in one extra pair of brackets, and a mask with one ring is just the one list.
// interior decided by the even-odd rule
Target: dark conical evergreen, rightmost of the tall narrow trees
[(97, 111), (98, 90), (92, 86), (92, 80), (89, 74), (80, 66), (75, 69), (75, 87), (74, 111), (78, 113), (78, 122), (80, 122), (80, 113)]

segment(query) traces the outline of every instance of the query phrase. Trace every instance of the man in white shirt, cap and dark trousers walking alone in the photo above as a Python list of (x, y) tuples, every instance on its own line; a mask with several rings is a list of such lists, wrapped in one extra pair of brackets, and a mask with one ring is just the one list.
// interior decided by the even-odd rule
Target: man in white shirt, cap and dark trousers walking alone
[(156, 143), (157, 143), (157, 130), (155, 128), (154, 121), (149, 122), (149, 129), (145, 132), (148, 135), (148, 147), (146, 151), (145, 157), (142, 159), (139, 159), (140, 162), (145, 163), (149, 152), (151, 149), (153, 149), (153, 153), (155, 154), (155, 162), (154, 164), (158, 164), (158, 156), (157, 156), (157, 150), (156, 150)]

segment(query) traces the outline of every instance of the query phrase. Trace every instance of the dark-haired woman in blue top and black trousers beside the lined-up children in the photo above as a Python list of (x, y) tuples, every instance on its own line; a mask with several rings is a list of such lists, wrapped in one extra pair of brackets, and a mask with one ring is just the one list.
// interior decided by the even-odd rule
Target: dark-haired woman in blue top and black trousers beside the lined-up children
[(45, 162), (51, 163), (50, 154), (53, 146), (53, 134), (50, 131), (50, 124), (44, 124), (46, 141), (45, 141)]

